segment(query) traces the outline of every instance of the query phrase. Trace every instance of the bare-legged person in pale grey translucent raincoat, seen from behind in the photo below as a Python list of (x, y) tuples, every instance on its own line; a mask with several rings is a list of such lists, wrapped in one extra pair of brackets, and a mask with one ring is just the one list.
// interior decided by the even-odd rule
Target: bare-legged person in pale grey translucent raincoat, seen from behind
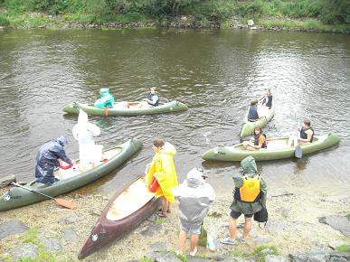
[(215, 200), (213, 187), (204, 182), (203, 172), (192, 169), (182, 184), (173, 189), (175, 199), (179, 201), (179, 217), (181, 230), (178, 248), (184, 253), (187, 234), (191, 235), (190, 256), (197, 252), (197, 243), (201, 234), (201, 225), (209, 210), (209, 205)]

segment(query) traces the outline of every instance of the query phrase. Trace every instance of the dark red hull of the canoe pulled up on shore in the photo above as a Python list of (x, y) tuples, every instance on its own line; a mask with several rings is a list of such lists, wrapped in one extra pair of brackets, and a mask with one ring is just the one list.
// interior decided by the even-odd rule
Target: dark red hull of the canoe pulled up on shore
[[(139, 179), (141, 175), (137, 176)], [(137, 180), (136, 179), (136, 180)], [(135, 180), (133, 181), (135, 182)], [(110, 199), (106, 208), (102, 211), (99, 220), (96, 222), (94, 228), (91, 230), (90, 236), (85, 240), (82, 248), (78, 255), (79, 259), (88, 257), (91, 253), (95, 252), (99, 248), (109, 245), (112, 241), (122, 239), (125, 237), (132, 229), (136, 229), (139, 224), (144, 220), (147, 220), (149, 216), (156, 212), (157, 208), (160, 205), (160, 198), (152, 198), (146, 203), (143, 207), (138, 209), (136, 212), (130, 214), (123, 220), (108, 220), (106, 218), (107, 213), (109, 212), (110, 206), (113, 204), (113, 201), (124, 192), (125, 189), (132, 182), (128, 183), (123, 188), (119, 189), (118, 192)]]

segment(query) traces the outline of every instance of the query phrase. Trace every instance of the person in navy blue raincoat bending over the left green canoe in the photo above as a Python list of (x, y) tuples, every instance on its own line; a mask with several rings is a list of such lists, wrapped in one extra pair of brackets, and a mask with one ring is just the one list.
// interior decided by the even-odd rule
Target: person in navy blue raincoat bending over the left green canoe
[(36, 182), (47, 185), (57, 182), (58, 179), (54, 177), (53, 170), (59, 166), (59, 159), (67, 164), (73, 164), (63, 149), (63, 146), (67, 144), (67, 138), (60, 136), (56, 140), (46, 142), (39, 148), (35, 166)]

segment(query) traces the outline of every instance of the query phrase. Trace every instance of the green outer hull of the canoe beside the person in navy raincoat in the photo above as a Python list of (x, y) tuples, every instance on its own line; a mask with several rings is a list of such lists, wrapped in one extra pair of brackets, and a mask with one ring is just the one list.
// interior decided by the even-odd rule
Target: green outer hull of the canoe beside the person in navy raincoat
[[(118, 145), (121, 148), (121, 152), (109, 159), (106, 164), (100, 164), (99, 166), (85, 172), (80, 173), (71, 178), (55, 182), (51, 186), (43, 188), (34, 188), (37, 192), (43, 192), (49, 196), (55, 197), (66, 192), (71, 192), (84, 186), (90, 182), (93, 182), (104, 175), (115, 170), (120, 164), (123, 164), (131, 155), (135, 154), (142, 146), (142, 142), (137, 139), (130, 139), (128, 142)], [(30, 184), (25, 185), (30, 188)], [(0, 198), (0, 211), (8, 211), (29, 204), (33, 204), (38, 201), (44, 201), (47, 198), (35, 193), (29, 192), (19, 187), (14, 187)]]

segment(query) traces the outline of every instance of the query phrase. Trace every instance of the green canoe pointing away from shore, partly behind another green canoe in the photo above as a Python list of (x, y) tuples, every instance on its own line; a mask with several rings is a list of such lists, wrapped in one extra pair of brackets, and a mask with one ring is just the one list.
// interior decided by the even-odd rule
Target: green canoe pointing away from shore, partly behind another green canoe
[[(252, 132), (254, 131), (255, 126), (264, 127), (264, 126), (268, 125), (268, 122), (270, 122), (272, 117), (275, 115), (275, 99), (274, 99), (274, 97), (272, 97), (272, 107), (269, 110), (266, 110), (267, 112), (265, 112), (265, 116), (260, 117), (258, 119), (258, 121), (255, 121), (255, 122), (248, 121), (248, 112), (249, 112), (250, 108), (251, 107), (248, 107), (247, 113), (245, 114), (245, 116), (243, 118), (244, 124), (243, 124), (243, 126), (241, 126), (241, 133), (240, 133), (241, 137), (250, 136), (252, 134)], [(263, 110), (263, 108), (266, 108), (266, 107), (265, 106), (258, 106), (258, 112), (265, 111), (265, 110)]]

